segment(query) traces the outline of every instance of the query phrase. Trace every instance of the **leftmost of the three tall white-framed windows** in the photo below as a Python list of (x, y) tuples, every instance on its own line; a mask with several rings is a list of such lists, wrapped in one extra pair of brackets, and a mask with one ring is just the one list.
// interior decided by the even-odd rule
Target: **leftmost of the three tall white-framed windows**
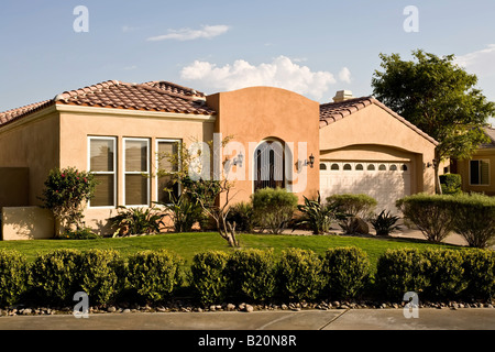
[(88, 138), (89, 170), (98, 185), (89, 201), (91, 208), (116, 207), (117, 188), (117, 139), (109, 136)]

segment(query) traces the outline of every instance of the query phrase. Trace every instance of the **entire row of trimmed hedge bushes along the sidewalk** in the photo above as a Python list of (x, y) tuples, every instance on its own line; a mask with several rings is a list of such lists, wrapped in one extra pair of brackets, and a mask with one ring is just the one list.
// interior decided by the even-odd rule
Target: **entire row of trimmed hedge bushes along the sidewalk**
[[(70, 306), (77, 292), (88, 294), (94, 305), (118, 299), (160, 302), (177, 293), (183, 264), (166, 250), (144, 251), (127, 260), (111, 250), (58, 250), (32, 264), (15, 251), (0, 251), (0, 307), (22, 299)], [(239, 250), (197, 254), (186, 278), (202, 305), (226, 299), (400, 301), (407, 292), (428, 299), (491, 299), (495, 252), (388, 250), (372, 273), (366, 253), (358, 248), (329, 249), (322, 256), (288, 249), (278, 257), (272, 250)]]

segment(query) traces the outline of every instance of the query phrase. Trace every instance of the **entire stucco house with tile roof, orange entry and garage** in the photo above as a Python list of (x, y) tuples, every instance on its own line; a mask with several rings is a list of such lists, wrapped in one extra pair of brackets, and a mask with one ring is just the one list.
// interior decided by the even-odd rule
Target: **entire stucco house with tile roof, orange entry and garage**
[(41, 227), (30, 226), (26, 215), (44, 217), (38, 197), (52, 168), (95, 173), (100, 184), (86, 222), (108, 233), (118, 206), (166, 200), (169, 179), (154, 175), (174, 166), (158, 153), (174, 153), (177, 142), (226, 136), (232, 143), (211, 170), (234, 176), (234, 201), (280, 186), (299, 199), (318, 191), (365, 193), (380, 208), (394, 210), (397, 198), (435, 190), (437, 142), (373, 97), (340, 91), (320, 105), (272, 87), (206, 96), (167, 81), (111, 80), (0, 113), (3, 235), (46, 235), (33, 234)]

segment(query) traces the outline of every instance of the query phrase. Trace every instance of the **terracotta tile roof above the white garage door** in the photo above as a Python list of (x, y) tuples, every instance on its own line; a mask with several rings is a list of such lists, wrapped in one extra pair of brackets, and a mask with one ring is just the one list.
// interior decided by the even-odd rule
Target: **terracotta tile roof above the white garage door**
[(376, 100), (374, 97), (362, 97), (349, 99), (340, 102), (329, 102), (320, 106), (320, 129), (326, 128), (339, 120), (342, 120), (366, 107), (375, 105), (386, 112), (388, 112), (392, 117), (404, 123), (409, 129), (414, 130), (416, 133), (430, 141), (435, 145), (438, 145), (438, 142), (432, 139), (430, 135), (418, 129), (415, 124), (410, 123), (389, 108), (387, 108), (384, 103)]

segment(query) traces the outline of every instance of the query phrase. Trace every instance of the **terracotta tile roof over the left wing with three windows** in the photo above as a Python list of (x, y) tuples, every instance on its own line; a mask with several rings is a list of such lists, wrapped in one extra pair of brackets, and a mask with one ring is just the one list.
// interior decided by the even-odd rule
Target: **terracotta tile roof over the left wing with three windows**
[(163, 111), (187, 114), (216, 114), (205, 103), (205, 95), (167, 81), (127, 84), (108, 80), (86, 88), (65, 91), (51, 100), (0, 112), (0, 127), (52, 105)]

